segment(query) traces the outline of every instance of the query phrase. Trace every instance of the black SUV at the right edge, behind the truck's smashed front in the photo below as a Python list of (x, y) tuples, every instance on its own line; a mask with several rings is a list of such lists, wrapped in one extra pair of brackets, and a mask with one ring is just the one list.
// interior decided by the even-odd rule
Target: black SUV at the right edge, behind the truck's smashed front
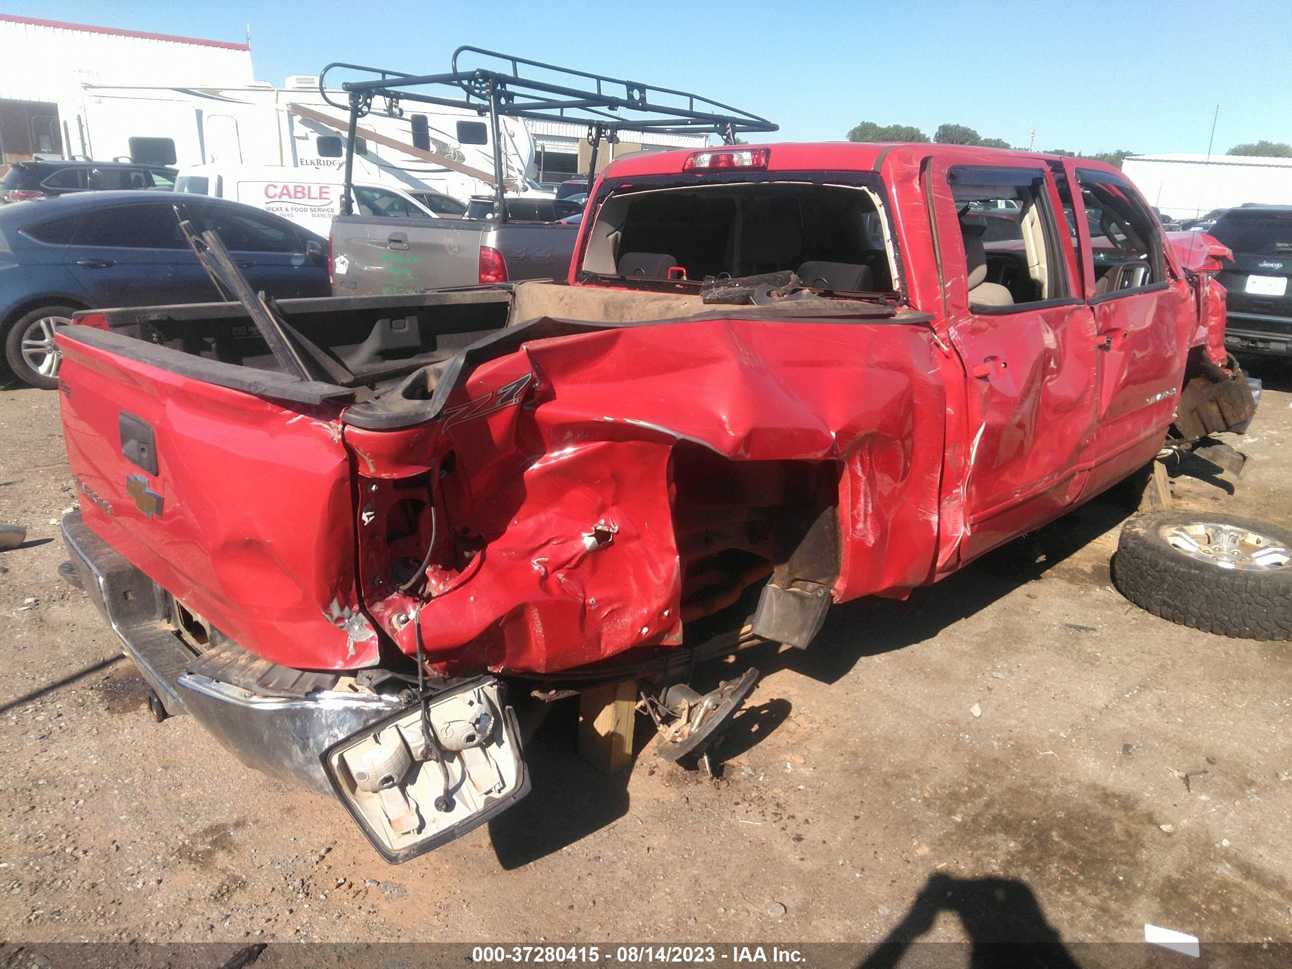
[(1225, 345), (1292, 355), (1292, 205), (1231, 208), (1211, 235), (1234, 253), (1216, 276), (1226, 293)]

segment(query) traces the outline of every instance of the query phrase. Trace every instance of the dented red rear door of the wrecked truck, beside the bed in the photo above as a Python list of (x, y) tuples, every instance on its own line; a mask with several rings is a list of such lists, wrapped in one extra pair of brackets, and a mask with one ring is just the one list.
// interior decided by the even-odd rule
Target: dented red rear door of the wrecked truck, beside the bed
[(1080, 495), (1096, 407), (1094, 320), (1044, 165), (938, 162), (926, 177), (948, 331), (968, 373), (968, 559)]

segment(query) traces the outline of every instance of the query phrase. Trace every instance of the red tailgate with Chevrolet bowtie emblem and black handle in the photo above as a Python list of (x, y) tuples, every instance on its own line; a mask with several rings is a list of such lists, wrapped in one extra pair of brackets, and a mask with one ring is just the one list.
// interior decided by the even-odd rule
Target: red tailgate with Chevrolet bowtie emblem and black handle
[(341, 403), (217, 386), (120, 351), (156, 354), (142, 341), (87, 331), (58, 336), (63, 437), (85, 523), (270, 662), (373, 663)]

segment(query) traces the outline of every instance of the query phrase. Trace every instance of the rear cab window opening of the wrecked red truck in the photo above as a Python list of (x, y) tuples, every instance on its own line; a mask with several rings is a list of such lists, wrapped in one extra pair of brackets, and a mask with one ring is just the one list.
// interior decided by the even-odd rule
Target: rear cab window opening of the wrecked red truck
[(827, 295), (897, 298), (885, 199), (870, 172), (612, 182), (594, 204), (580, 270), (585, 282), (671, 291), (792, 271)]

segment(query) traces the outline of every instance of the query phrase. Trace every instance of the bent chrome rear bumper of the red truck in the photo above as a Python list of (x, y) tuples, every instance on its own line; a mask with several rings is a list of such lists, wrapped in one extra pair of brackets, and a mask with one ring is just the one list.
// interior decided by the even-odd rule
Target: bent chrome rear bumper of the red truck
[(326, 795), (320, 757), (332, 744), (399, 709), (393, 696), (333, 689), (335, 673), (267, 663), (234, 643), (200, 656), (159, 621), (163, 590), (81, 521), (63, 517), (81, 588), (167, 713), (190, 713), (248, 767)]

